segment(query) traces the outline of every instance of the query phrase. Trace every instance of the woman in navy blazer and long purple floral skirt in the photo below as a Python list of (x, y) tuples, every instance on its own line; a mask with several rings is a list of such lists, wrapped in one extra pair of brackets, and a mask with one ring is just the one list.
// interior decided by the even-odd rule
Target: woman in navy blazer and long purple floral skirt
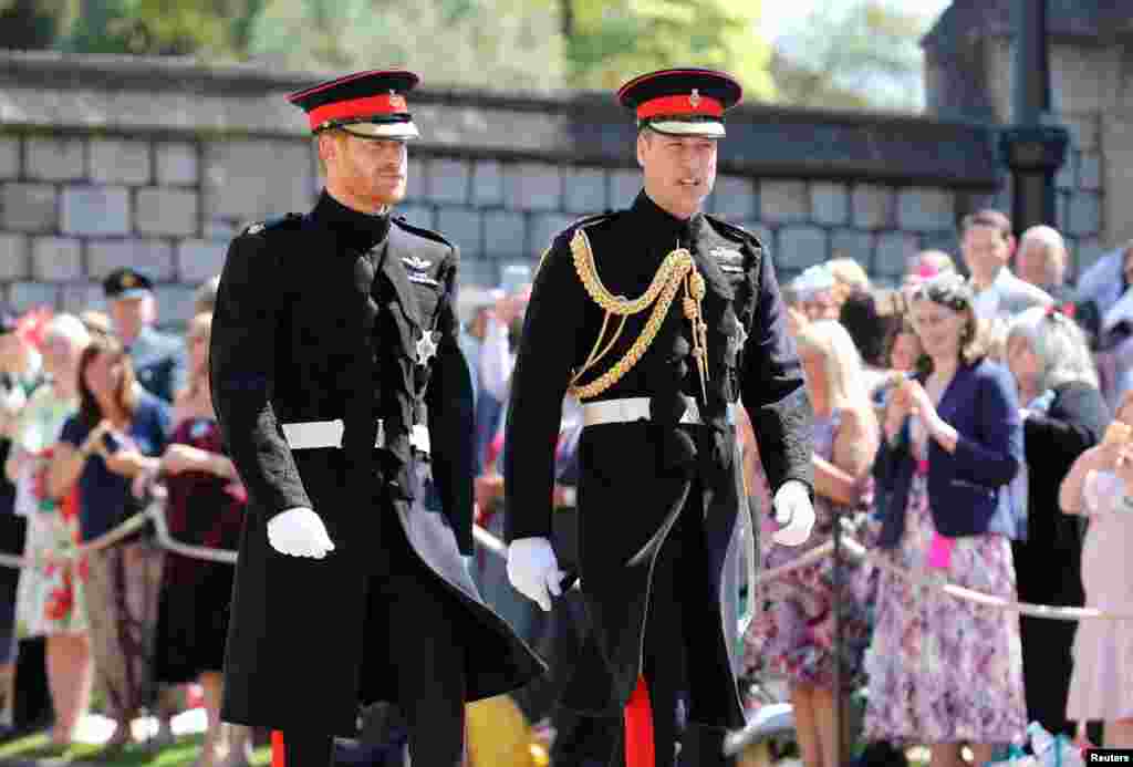
[[(913, 292), (930, 372), (889, 399), (875, 476), (879, 545), (896, 568), (1015, 598), (1008, 483), (1023, 460), (1011, 373), (986, 358), (971, 289), (942, 275)], [(931, 744), (932, 767), (976, 764), (1024, 736), (1019, 615), (881, 571), (866, 654), (868, 740)]]

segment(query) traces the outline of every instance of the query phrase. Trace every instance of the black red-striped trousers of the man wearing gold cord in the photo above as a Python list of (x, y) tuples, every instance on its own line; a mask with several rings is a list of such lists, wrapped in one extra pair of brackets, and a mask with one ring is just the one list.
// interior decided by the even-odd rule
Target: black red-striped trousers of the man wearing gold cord
[[(715, 673), (719, 604), (708, 583), (708, 553), (702, 512), (695, 484), (654, 564), (645, 634), (645, 681), (653, 709), (656, 767), (718, 767), (734, 764), (723, 755), (723, 728), (690, 725), (681, 736), (681, 718), (714, 721), (725, 689)], [(698, 661), (707, 662), (701, 665)], [(688, 717), (679, 716), (687, 697)], [(698, 710), (699, 709), (699, 710)], [(624, 728), (619, 727), (611, 767), (625, 764)], [(676, 744), (683, 741), (681, 758)]]

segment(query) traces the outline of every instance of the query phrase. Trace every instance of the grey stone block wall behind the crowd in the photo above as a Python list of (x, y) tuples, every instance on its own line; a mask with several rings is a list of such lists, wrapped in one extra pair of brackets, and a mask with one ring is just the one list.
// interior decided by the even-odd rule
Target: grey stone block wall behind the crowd
[[(0, 53), (3, 297), (97, 307), (99, 281), (131, 264), (160, 282), (163, 321), (182, 322), (240, 228), (312, 204), (315, 154), (283, 95), (317, 79)], [(608, 94), (424, 90), (410, 104), (424, 138), (402, 212), (461, 247), (466, 282), (494, 284), (503, 265), (534, 262), (555, 231), (639, 189), (633, 128)], [(729, 131), (708, 210), (763, 237), (784, 278), (846, 255), (892, 280), (920, 248), (955, 253), (962, 215), (1005, 204), (982, 125), (751, 105)], [(1083, 150), (1067, 177), (1075, 189), (1099, 184), (1093, 156)]]

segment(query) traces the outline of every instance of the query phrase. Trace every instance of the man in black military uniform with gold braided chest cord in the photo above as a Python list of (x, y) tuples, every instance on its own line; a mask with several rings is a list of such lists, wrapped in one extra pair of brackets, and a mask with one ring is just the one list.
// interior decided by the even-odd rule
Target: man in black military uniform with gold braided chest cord
[[(770, 257), (700, 212), (716, 176), (730, 76), (653, 73), (627, 84), (645, 189), (577, 222), (535, 279), (512, 378), (504, 484), (509, 576), (544, 610), (564, 573), (551, 544), (563, 393), (582, 401), (578, 549), (587, 647), (562, 704), (624, 716), (613, 764), (674, 764), (676, 700), (699, 728), (743, 724), (729, 580), (744, 504), (738, 401), (775, 489), (780, 543), (813, 523), (811, 410)], [(724, 760), (706, 749), (691, 764)], [(688, 755), (684, 757), (688, 762)]]

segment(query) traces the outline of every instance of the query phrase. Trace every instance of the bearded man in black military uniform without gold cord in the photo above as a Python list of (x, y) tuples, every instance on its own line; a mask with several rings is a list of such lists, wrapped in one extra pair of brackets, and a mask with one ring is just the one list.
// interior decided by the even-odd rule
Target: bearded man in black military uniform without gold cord
[(418, 765), (461, 762), (467, 700), (543, 673), (480, 600), (472, 409), (457, 252), (391, 215), (417, 136), (407, 71), (292, 94), (326, 188), (307, 215), (232, 241), (213, 402), (249, 505), (223, 719), (278, 731), (275, 762), (331, 764), (359, 705), (398, 704)]

